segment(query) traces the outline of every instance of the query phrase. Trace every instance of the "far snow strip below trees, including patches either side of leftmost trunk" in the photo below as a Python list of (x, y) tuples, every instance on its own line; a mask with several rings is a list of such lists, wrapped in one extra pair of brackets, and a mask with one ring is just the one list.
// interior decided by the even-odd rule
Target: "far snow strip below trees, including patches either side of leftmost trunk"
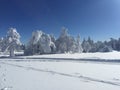
[[(96, 52), (96, 53), (66, 53), (66, 54), (44, 54), (44, 55), (32, 55), (32, 56), (19, 56), (23, 55), (23, 52), (15, 52), (16, 59), (96, 59), (96, 60), (120, 60), (120, 52)], [(0, 53), (1, 57), (8, 57), (8, 54)]]

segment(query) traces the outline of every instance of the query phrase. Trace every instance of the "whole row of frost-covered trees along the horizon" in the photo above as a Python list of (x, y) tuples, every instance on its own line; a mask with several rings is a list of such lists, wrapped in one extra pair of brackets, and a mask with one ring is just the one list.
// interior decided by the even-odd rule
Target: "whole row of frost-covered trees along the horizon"
[(17, 30), (9, 28), (7, 35), (0, 38), (0, 52), (9, 52), (10, 56), (14, 56), (14, 51), (19, 50), (23, 50), (25, 55), (120, 51), (120, 38), (94, 42), (88, 37), (81, 41), (80, 35), (73, 37), (68, 33), (68, 29), (63, 27), (57, 39), (41, 30), (34, 31), (31, 39), (24, 45)]

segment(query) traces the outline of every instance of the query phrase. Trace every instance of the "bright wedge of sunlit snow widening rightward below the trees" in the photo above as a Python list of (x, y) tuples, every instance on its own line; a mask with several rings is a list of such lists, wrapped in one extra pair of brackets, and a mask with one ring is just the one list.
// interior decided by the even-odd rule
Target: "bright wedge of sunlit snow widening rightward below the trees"
[(68, 59), (106, 59), (106, 60), (120, 60), (120, 52), (113, 51), (107, 53), (75, 53), (75, 54), (47, 54), (47, 55), (33, 55), (22, 56), (20, 58), (68, 58)]

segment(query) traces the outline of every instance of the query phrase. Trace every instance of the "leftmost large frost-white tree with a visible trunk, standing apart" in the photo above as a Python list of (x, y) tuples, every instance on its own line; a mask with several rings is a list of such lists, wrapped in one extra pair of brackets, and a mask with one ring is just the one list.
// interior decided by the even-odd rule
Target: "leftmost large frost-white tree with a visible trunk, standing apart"
[(4, 43), (6, 44), (6, 50), (10, 51), (10, 56), (15, 56), (14, 50), (16, 47), (21, 45), (20, 34), (15, 28), (10, 28), (7, 32), (7, 37), (5, 38)]

